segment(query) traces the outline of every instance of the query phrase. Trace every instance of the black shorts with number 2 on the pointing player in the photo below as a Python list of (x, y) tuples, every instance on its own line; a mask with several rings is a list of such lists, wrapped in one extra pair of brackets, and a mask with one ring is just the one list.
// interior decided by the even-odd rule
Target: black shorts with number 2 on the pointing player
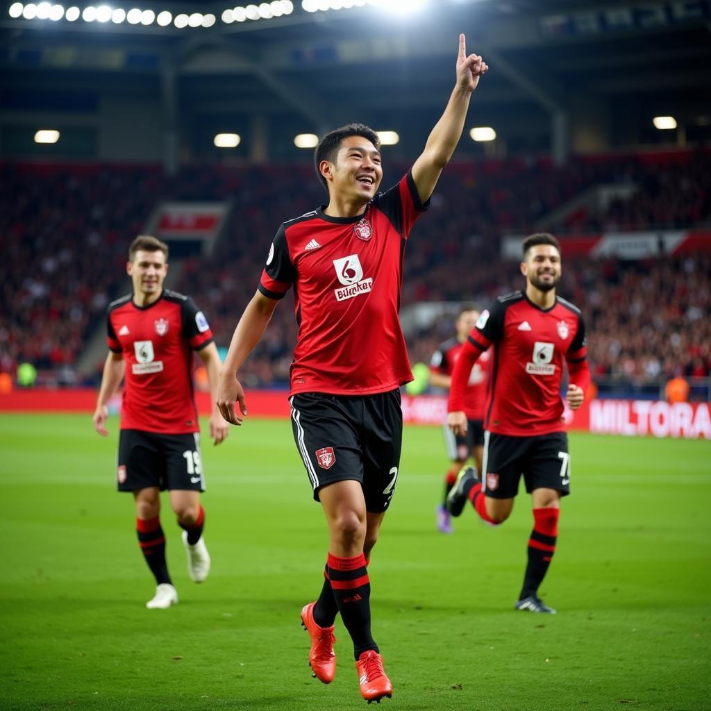
[(380, 513), (395, 493), (402, 449), (400, 390), (377, 395), (299, 392), (292, 405), (294, 441), (314, 499), (321, 486), (360, 481), (365, 508)]

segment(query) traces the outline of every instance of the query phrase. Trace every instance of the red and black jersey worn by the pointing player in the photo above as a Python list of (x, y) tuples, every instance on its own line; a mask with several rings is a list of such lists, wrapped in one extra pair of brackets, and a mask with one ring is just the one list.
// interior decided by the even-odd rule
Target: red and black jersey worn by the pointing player
[(320, 208), (279, 228), (259, 290), (281, 299), (294, 287), (292, 395), (368, 395), (412, 380), (398, 311), (405, 243), (425, 209), (407, 173), (363, 215)]

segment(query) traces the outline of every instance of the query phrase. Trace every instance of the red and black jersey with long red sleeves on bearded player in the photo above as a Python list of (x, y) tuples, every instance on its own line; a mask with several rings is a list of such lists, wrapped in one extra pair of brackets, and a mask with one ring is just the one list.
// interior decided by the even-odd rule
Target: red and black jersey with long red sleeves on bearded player
[(565, 430), (560, 393), (563, 360), (570, 382), (587, 390), (585, 326), (576, 306), (557, 296), (541, 309), (524, 292), (500, 296), (479, 317), (462, 348), (449, 391), (449, 411), (464, 410), (469, 363), (493, 346), (484, 427), (530, 437)]

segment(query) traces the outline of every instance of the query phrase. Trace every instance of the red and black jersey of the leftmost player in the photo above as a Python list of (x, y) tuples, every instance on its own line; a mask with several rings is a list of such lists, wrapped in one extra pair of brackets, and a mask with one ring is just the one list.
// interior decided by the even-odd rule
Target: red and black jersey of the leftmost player
[(193, 350), (213, 333), (193, 299), (164, 289), (150, 306), (132, 294), (109, 304), (109, 348), (126, 361), (121, 429), (162, 434), (198, 432), (193, 397)]

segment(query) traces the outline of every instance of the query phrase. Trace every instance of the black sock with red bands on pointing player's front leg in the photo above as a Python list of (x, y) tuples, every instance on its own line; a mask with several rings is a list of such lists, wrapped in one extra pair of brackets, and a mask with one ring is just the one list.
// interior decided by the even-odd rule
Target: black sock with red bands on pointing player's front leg
[(370, 634), (370, 579), (363, 553), (354, 558), (328, 554), (328, 576), (343, 624), (353, 640), (358, 660), (368, 649), (378, 651)]

